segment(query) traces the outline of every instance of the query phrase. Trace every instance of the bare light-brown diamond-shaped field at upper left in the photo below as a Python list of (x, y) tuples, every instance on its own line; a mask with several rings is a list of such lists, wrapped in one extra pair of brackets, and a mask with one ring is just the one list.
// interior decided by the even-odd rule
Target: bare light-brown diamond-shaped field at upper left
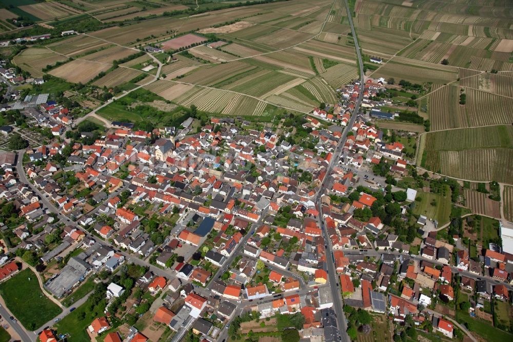
[(60, 67), (52, 69), (49, 74), (60, 77), (68, 82), (87, 83), (102, 71), (107, 71), (111, 65), (85, 60), (73, 60)]

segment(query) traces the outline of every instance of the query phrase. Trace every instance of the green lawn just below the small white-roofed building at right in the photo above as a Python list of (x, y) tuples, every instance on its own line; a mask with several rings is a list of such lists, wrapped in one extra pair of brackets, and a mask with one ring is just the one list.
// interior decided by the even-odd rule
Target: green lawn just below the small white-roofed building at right
[(428, 219), (436, 219), (438, 220), (439, 226), (449, 222), (451, 210), (450, 195), (443, 197), (442, 195), (435, 193), (418, 192), (417, 198), (420, 198), (421, 200), (415, 201), (413, 214), (424, 215)]

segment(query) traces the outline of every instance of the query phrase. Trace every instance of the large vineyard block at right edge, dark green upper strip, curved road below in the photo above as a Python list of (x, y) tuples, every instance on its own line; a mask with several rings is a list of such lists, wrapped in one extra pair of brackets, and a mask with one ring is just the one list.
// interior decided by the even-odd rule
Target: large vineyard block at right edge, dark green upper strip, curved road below
[(428, 132), (418, 163), (440, 174), (471, 181), (513, 181), (513, 127), (490, 126)]

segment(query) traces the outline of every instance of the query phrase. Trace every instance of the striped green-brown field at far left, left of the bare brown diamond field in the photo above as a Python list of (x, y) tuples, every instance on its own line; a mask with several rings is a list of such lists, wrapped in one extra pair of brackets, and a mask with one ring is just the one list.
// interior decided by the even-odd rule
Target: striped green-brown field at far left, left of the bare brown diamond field
[(42, 71), (47, 65), (56, 62), (66, 61), (67, 58), (45, 48), (28, 48), (16, 55), (13, 62), (25, 71), (30, 72), (32, 77), (43, 77)]

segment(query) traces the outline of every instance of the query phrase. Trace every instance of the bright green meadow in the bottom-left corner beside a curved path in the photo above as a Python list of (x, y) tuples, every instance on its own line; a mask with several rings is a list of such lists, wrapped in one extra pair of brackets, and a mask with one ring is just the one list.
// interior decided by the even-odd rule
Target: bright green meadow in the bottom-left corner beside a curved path
[(62, 312), (48, 299), (29, 269), (0, 284), (0, 295), (12, 314), (29, 330), (35, 330)]

